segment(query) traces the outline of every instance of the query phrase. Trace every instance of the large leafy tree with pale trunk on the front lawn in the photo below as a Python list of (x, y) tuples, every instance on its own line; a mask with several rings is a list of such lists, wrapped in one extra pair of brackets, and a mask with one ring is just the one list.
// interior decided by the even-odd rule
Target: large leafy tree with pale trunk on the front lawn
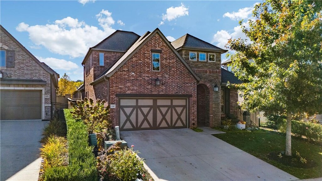
[[(242, 108), (287, 115), (286, 150), (291, 156), (291, 114), (322, 113), (322, 1), (272, 1), (255, 6), (250, 41), (230, 39), (227, 48)], [(250, 42), (250, 43), (249, 43)], [(249, 60), (253, 59), (254, 62)]]

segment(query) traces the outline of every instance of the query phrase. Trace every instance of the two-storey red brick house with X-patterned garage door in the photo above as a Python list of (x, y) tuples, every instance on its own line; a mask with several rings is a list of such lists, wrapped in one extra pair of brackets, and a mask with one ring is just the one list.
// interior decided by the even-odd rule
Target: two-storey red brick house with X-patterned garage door
[(221, 68), (224, 52), (189, 34), (170, 43), (158, 28), (117, 30), (83, 59), (84, 94), (107, 100), (120, 130), (220, 125), (238, 112), (226, 83), (239, 80)]

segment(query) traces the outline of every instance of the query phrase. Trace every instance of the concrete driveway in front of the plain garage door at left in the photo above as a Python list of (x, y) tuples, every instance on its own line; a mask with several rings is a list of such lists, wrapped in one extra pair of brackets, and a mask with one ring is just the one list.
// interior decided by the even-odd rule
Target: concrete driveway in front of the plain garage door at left
[(40, 139), (48, 121), (0, 121), (0, 180), (38, 180)]

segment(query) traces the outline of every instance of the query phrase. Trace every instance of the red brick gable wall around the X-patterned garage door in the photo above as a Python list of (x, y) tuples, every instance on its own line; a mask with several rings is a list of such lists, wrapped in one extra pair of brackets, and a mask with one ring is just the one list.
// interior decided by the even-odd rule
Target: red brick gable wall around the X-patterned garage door
[[(162, 50), (161, 71), (152, 71), (151, 49)], [(154, 79), (157, 77), (164, 85), (155, 85)], [(118, 125), (117, 93), (191, 94), (188, 124), (189, 128), (197, 125), (197, 81), (158, 34), (109, 78), (109, 103), (116, 104), (116, 109), (111, 109), (114, 126)]]

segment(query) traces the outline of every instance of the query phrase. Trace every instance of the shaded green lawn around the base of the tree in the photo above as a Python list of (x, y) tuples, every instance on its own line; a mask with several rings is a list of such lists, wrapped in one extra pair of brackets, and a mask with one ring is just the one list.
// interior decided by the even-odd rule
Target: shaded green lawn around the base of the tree
[[(236, 130), (236, 129), (221, 129), (225, 134), (213, 135), (217, 138), (226, 141), (227, 143), (244, 150), (251, 155), (260, 158), (261, 160), (278, 167), (285, 172), (296, 176), (300, 179), (322, 177), (322, 147), (318, 144), (313, 144), (306, 139), (296, 138), (292, 136), (292, 155), (296, 156), (298, 151), (301, 157), (304, 157), (310, 163), (311, 168), (293, 167), (288, 163), (282, 163), (279, 159), (271, 159), (272, 156), (281, 151), (285, 151), (285, 134), (269, 131), (269, 130)], [(286, 157), (286, 156), (284, 156)]]

